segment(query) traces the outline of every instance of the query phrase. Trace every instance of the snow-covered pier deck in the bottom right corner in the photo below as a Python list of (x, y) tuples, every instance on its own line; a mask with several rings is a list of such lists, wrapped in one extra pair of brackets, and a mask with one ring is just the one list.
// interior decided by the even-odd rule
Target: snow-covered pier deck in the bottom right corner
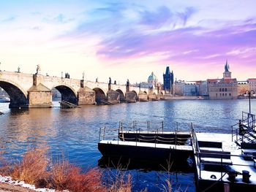
[[(224, 191), (228, 185), (230, 191), (256, 190), (255, 159), (242, 155), (242, 150), (232, 142), (231, 134), (196, 133), (197, 147), (194, 145), (197, 184), (199, 191)], [(221, 147), (200, 147), (200, 143)], [(201, 151), (200, 151), (201, 150)], [(256, 152), (256, 149), (254, 149)], [(206, 161), (206, 158), (208, 160)], [(227, 163), (228, 162), (228, 163)], [(243, 181), (244, 172), (249, 172), (249, 182)]]

